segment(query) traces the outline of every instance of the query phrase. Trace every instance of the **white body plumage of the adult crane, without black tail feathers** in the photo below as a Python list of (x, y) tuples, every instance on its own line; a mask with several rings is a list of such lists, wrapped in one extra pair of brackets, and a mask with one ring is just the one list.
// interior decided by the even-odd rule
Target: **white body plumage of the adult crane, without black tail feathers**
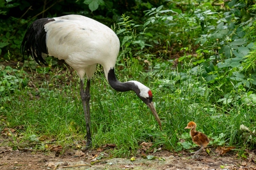
[(84, 74), (91, 79), (99, 63), (108, 79), (108, 71), (115, 67), (120, 48), (115, 32), (81, 15), (56, 17), (54, 20), (45, 24), (49, 55), (65, 60), (81, 79)]

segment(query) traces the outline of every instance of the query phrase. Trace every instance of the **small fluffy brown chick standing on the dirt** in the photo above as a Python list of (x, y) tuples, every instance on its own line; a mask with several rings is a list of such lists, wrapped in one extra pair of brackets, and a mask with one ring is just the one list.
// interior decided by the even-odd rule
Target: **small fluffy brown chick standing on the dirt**
[(194, 152), (195, 153), (194, 155), (201, 152), (202, 149), (204, 149), (210, 143), (209, 138), (207, 138), (207, 136), (205, 134), (203, 134), (202, 132), (195, 131), (196, 130), (196, 123), (195, 122), (189, 122), (188, 126), (185, 127), (185, 129), (191, 129), (189, 134), (190, 134), (193, 142), (196, 145), (201, 147), (198, 151)]

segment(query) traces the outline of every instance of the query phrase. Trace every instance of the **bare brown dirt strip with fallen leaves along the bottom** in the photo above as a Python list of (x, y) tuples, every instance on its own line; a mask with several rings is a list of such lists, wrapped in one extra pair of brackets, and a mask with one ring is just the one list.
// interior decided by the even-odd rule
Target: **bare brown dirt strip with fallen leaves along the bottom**
[[(213, 154), (202, 152), (196, 157), (187, 151), (175, 153), (159, 149), (158, 152), (147, 153), (142, 148), (138, 157), (131, 161), (131, 158), (111, 159), (111, 150), (115, 145), (84, 152), (65, 148), (65, 152), (60, 153), (59, 146), (54, 147), (55, 151), (19, 147), (13, 150), (6, 141), (6, 138), (0, 137), (0, 169), (256, 169), (256, 150), (248, 151), (243, 160), (232, 151), (214, 155), (214, 148), (211, 148)], [(148, 159), (148, 155), (155, 158)]]

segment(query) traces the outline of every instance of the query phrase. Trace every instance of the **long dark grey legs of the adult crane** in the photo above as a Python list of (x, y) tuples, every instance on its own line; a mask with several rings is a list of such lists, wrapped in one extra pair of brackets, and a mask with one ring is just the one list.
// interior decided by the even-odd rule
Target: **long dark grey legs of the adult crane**
[(91, 117), (90, 117), (90, 84), (91, 81), (87, 79), (86, 83), (86, 89), (84, 92), (84, 81), (81, 80), (81, 88), (80, 88), (80, 96), (83, 103), (83, 110), (84, 110), (84, 117), (86, 122), (86, 136), (87, 136), (87, 142), (86, 146), (92, 145), (92, 136), (91, 136)]

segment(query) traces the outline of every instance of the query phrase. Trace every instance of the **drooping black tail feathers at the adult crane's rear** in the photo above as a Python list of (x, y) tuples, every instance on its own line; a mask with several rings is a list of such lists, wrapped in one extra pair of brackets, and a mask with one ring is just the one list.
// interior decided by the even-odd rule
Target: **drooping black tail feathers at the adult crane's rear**
[(35, 20), (35, 22), (29, 25), (28, 31), (26, 32), (20, 46), (23, 58), (25, 51), (27, 51), (28, 57), (31, 55), (38, 64), (40, 64), (40, 62), (45, 65), (47, 64), (42, 56), (44, 53), (48, 54), (44, 25), (52, 21), (54, 21), (53, 18), (42, 18)]

